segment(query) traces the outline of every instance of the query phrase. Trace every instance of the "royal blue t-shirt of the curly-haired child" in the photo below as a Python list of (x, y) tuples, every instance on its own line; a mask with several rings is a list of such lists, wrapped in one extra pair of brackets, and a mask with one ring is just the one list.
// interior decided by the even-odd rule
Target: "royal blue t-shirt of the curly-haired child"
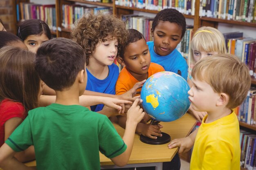
[[(119, 68), (116, 64), (108, 66), (109, 72), (106, 79), (97, 79), (88, 71), (88, 69), (86, 69), (86, 71), (88, 78), (85, 90), (115, 95), (115, 86), (119, 75)], [(94, 105), (91, 106), (91, 110), (98, 112), (102, 110), (103, 106), (103, 104)]]

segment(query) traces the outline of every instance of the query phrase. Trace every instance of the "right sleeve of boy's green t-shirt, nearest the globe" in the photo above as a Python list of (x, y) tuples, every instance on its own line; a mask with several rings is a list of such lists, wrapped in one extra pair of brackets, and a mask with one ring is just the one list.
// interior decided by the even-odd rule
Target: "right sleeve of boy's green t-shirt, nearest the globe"
[(121, 155), (127, 146), (117, 133), (117, 130), (106, 117), (99, 132), (99, 151), (108, 158)]

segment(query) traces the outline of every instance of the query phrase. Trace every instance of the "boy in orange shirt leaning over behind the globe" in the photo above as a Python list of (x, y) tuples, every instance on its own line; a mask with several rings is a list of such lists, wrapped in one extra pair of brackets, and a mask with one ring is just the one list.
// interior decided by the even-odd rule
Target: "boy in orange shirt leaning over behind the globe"
[[(128, 29), (128, 40), (121, 47), (117, 62), (124, 66), (116, 83), (116, 94), (121, 95), (136, 83), (151, 75), (165, 71), (162, 66), (150, 63), (150, 53), (144, 36), (135, 29)], [(141, 88), (137, 89), (140, 93)]]

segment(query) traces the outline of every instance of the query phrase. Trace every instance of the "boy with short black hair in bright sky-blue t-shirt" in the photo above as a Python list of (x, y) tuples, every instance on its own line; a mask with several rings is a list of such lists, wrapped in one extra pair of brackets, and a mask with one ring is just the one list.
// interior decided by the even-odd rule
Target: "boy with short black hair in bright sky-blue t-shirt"
[(176, 9), (164, 9), (155, 16), (151, 36), (147, 42), (151, 62), (160, 64), (166, 71), (178, 73), (184, 79), (188, 76), (186, 60), (176, 47), (186, 31), (186, 20)]

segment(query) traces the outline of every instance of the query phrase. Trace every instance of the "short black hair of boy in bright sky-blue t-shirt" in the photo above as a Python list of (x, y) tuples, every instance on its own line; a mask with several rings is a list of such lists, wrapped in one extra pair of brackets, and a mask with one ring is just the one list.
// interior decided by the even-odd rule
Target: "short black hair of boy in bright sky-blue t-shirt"
[(161, 21), (169, 21), (171, 23), (176, 23), (178, 26), (180, 26), (180, 28), (182, 29), (181, 38), (183, 38), (186, 32), (186, 19), (182, 13), (172, 8), (163, 9), (162, 11), (157, 13), (157, 15), (155, 16), (152, 22), (152, 32), (155, 31), (155, 27)]

